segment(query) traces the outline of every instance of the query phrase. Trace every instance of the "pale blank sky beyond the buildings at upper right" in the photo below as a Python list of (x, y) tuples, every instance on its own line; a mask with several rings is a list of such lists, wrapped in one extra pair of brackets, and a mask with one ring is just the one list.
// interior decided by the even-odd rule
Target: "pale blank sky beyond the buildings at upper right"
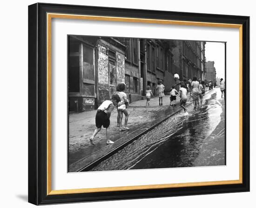
[(225, 79), (225, 44), (222, 42), (206, 42), (206, 61), (214, 61), (216, 77)]

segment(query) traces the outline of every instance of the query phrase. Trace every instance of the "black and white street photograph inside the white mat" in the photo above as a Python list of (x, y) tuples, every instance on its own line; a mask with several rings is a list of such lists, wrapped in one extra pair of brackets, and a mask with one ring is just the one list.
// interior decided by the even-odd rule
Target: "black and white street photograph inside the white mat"
[(226, 43), (68, 35), (68, 172), (226, 165)]

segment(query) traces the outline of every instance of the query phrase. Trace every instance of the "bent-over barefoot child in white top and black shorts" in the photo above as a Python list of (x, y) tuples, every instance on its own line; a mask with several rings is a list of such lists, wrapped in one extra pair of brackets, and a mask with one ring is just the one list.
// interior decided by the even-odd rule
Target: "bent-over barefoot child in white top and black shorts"
[(110, 101), (104, 101), (98, 107), (96, 117), (95, 117), (95, 123), (96, 123), (96, 129), (94, 130), (93, 135), (90, 138), (90, 142), (92, 145), (94, 145), (93, 139), (94, 137), (101, 131), (101, 126), (106, 128), (106, 139), (107, 139), (107, 144), (113, 144), (114, 141), (111, 141), (109, 139), (109, 125), (110, 125), (110, 115), (111, 112), (114, 109), (114, 106), (120, 102), (120, 97), (117, 94), (114, 94), (111, 98)]

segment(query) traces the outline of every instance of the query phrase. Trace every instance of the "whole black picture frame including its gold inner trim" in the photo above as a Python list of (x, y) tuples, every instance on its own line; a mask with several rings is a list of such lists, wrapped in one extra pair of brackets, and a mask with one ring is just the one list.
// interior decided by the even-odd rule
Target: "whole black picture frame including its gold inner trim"
[[(51, 34), (54, 18), (238, 28), (239, 180), (53, 190)], [(28, 201), (36, 205), (249, 191), (249, 17), (46, 3), (30, 5), (28, 127)]]

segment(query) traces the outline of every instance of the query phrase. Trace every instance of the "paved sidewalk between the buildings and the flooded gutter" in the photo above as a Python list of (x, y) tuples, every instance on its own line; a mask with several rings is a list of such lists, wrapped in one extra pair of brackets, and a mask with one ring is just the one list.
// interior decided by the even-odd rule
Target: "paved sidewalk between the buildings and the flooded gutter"
[[(116, 127), (117, 111), (115, 109), (110, 117), (110, 139), (115, 141), (111, 145), (106, 144), (104, 128), (94, 138), (95, 145), (90, 144), (89, 138), (95, 129), (96, 110), (69, 114), (69, 172), (80, 171), (104, 155), (117, 151), (120, 146), (131, 141), (138, 134), (182, 110), (179, 100), (177, 96), (175, 107), (170, 106), (168, 95), (163, 98), (162, 106), (159, 106), (158, 97), (151, 98), (148, 107), (145, 107), (146, 100), (131, 103), (128, 108), (130, 130), (124, 132), (119, 132), (119, 128)], [(191, 102), (188, 99), (187, 105)]]

